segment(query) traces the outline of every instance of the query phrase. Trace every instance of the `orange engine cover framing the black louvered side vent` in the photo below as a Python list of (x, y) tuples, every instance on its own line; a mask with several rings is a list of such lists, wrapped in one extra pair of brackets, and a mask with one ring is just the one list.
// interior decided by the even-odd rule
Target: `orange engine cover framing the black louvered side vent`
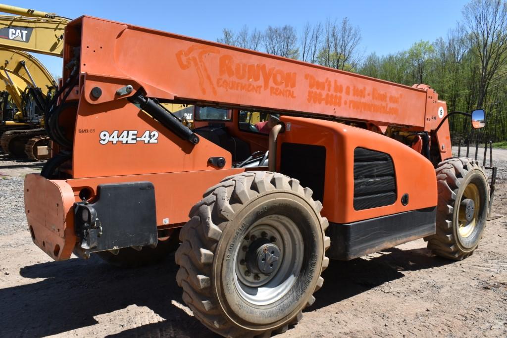
[[(328, 217), (330, 222), (345, 224), (437, 205), (434, 168), (412, 148), (381, 134), (338, 122), (284, 116), (281, 120), (286, 129), (279, 135), (278, 154), (283, 151), (284, 142), (322, 145), (326, 148), (321, 202), (322, 215)], [(354, 151), (357, 147), (386, 153), (392, 158), (396, 182), (394, 203), (364, 210), (354, 209)], [(277, 168), (280, 168), (280, 156)], [(308, 165), (304, 158), (300, 159), (300, 163)], [(372, 166), (371, 170), (376, 170), (376, 167)], [(402, 203), (405, 194), (409, 197), (406, 205)]]

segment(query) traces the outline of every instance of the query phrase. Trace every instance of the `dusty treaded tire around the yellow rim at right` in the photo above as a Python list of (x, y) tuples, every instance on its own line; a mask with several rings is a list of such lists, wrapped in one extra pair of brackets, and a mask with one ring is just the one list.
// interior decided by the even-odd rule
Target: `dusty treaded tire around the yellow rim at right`
[[(486, 228), (489, 208), (489, 185), (484, 167), (473, 159), (451, 158), (439, 163), (437, 169), (438, 206), (436, 234), (426, 237), (428, 249), (434, 254), (461, 260), (478, 247)], [(466, 186), (473, 183), (479, 191), (480, 210), (476, 226), (466, 238), (458, 231), (458, 212)]]

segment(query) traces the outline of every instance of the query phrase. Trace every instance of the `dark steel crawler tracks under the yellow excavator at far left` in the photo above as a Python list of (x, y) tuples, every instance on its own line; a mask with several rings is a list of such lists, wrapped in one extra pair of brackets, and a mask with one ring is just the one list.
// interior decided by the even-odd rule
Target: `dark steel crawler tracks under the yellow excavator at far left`
[[(38, 152), (34, 151), (33, 146), (30, 146), (30, 150), (27, 151), (27, 145), (28, 143), (31, 143), (32, 145), (37, 146), (39, 140), (38, 137), (42, 136), (43, 138), (48, 138), (45, 136), (45, 133), (46, 130), (44, 128), (9, 130), (2, 134), (2, 138), (0, 138), (0, 145), (2, 146), (4, 153), (8, 154), (9, 156), (28, 156), (28, 158), (32, 160), (39, 160), (37, 158)], [(32, 138), (34, 139), (33, 141)], [(41, 145), (40, 142), (39, 145)]]

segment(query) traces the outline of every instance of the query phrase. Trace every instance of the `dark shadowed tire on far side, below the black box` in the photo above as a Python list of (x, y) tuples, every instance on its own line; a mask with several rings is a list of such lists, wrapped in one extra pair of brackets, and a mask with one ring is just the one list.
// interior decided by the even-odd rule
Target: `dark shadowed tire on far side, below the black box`
[(123, 248), (115, 255), (110, 251), (97, 252), (102, 260), (115, 267), (139, 268), (157, 264), (166, 259), (170, 253), (176, 251), (179, 246), (178, 232), (171, 234), (165, 241), (158, 241), (157, 247), (142, 247), (140, 251), (132, 248)]

